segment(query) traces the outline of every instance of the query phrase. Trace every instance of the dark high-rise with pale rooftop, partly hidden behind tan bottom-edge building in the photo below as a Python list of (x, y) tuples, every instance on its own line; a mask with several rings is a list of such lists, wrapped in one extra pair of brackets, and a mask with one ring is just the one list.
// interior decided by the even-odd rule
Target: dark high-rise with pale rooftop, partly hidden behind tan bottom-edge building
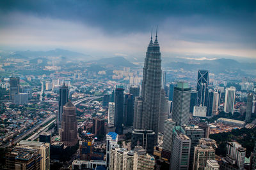
[(198, 128), (198, 126), (185, 125), (182, 126), (186, 132), (186, 136), (191, 139), (190, 156), (189, 156), (189, 169), (193, 169), (193, 158), (195, 152), (195, 146), (199, 145), (199, 140), (204, 138), (204, 130)]

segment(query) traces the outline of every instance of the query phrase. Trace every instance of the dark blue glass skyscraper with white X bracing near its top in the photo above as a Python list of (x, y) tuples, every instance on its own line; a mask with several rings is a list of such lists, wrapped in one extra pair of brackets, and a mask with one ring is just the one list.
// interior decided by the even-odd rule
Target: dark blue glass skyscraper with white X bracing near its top
[(209, 70), (200, 69), (198, 70), (197, 76), (197, 105), (207, 106), (207, 95), (208, 95), (208, 84), (209, 84)]

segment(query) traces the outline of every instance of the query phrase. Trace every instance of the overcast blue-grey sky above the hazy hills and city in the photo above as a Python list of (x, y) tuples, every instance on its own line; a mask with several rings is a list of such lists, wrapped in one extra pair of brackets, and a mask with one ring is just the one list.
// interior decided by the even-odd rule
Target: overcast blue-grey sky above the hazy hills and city
[[(193, 2), (193, 3), (192, 3)], [(256, 1), (0, 1), (0, 50), (64, 48), (144, 57), (256, 58)]]

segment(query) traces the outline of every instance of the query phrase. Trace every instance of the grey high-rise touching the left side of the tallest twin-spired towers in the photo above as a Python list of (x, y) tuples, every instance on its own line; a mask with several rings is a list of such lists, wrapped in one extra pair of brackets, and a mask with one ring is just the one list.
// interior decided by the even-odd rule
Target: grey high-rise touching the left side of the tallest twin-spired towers
[(133, 129), (142, 129), (142, 97), (135, 97), (134, 101), (134, 117), (133, 117)]

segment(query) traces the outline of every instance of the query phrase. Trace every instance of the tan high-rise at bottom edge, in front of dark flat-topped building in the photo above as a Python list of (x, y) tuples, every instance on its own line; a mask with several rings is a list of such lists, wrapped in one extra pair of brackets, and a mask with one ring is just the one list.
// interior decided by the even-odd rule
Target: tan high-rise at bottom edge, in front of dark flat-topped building
[(195, 146), (193, 170), (204, 170), (208, 159), (209, 160), (215, 159), (214, 148), (206, 145)]

